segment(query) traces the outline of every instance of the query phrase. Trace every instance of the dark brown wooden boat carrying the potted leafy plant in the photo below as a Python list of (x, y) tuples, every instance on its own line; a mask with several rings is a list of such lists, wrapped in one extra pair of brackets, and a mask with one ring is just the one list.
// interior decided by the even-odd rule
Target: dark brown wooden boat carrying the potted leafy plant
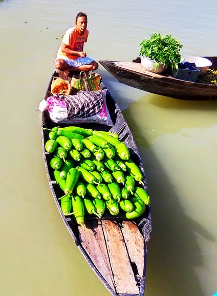
[[(207, 57), (217, 69), (217, 57)], [(184, 100), (217, 99), (217, 84), (190, 82), (177, 79), (166, 71), (153, 73), (141, 67), (138, 57), (132, 62), (99, 61), (120, 83), (147, 92)]]

